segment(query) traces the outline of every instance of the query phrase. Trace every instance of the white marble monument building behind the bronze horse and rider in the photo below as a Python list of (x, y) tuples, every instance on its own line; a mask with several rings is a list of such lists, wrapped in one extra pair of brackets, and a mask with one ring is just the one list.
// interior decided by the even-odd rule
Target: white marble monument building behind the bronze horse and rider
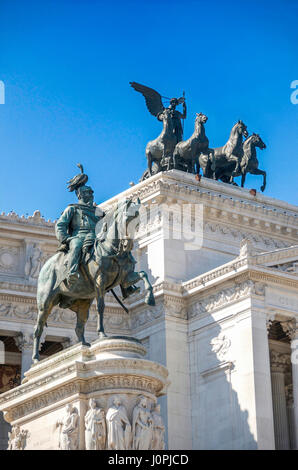
[[(147, 271), (154, 284), (156, 306), (148, 307), (140, 292), (126, 301), (127, 315), (108, 294), (105, 328), (109, 334), (138, 338), (147, 350), (146, 359), (165, 366), (171, 382), (167, 394), (158, 399), (161, 424), (154, 417), (152, 400), (151, 418), (146, 419), (148, 404), (144, 404), (143, 418), (138, 419), (145, 420), (148, 434), (156, 435), (159, 447), (164, 441), (168, 449), (297, 449), (298, 207), (210, 179), (198, 182), (194, 175), (175, 170), (158, 173), (102, 207), (131, 196), (146, 206), (134, 256), (136, 269)], [(186, 237), (179, 231), (181, 220), (190, 220)], [(45, 260), (57, 243), (54, 224), (39, 213), (30, 218), (0, 215), (0, 227), (0, 340), (4, 339), (6, 347), (0, 371), (3, 367), (6, 374), (2, 390), (8, 390), (14, 378), (12, 368), (20, 369), (23, 364), (24, 371), (29, 367), (30, 335), (37, 313), (35, 269), (30, 266), (40, 263), (40, 254), (34, 260), (31, 248), (36, 244)], [(75, 342), (74, 323), (70, 311), (54, 309), (41, 349), (44, 363), (52, 364), (57, 356), (50, 354), (57, 351), (61, 357), (69, 351), (83, 357), (80, 346), (63, 349)], [(96, 339), (95, 306), (86, 336)], [(42, 364), (34, 366), (25, 380), (33, 380), (34, 370), (42, 376)], [(88, 361), (82, 364), (87, 367)], [(83, 374), (81, 370), (75, 373)], [(21, 389), (27, 387), (29, 394), (28, 383)], [(6, 393), (17, 390), (10, 388)], [(144, 390), (129, 403), (121, 393), (117, 396), (117, 405), (93, 396), (95, 408), (106, 417), (109, 409), (124, 407), (132, 433), (133, 410), (143, 396), (150, 397)], [(0, 395), (1, 409), (4, 397)], [(84, 442), (90, 398), (85, 396), (82, 411), (78, 401), (62, 397), (51, 432), (70, 402), (78, 409), (80, 443)], [(41, 390), (39, 399), (43, 399)], [(125, 435), (124, 416), (119, 411)], [(28, 431), (26, 446), (32, 448), (26, 419), (11, 422)], [(96, 445), (100, 446), (103, 425), (98, 427), (101, 437)], [(59, 427), (54, 432), (58, 445)], [(4, 434), (0, 438), (7, 448)], [(119, 435), (119, 441), (139, 445), (129, 435), (128, 425), (126, 438)], [(41, 445), (34, 443), (34, 448)]]

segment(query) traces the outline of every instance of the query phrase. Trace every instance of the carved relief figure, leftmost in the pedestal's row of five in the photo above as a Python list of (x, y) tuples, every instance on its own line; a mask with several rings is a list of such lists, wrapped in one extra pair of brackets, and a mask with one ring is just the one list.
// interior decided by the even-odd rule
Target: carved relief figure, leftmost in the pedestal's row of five
[(66, 414), (57, 422), (60, 427), (59, 449), (77, 450), (79, 447), (79, 415), (76, 407), (69, 403), (66, 406)]

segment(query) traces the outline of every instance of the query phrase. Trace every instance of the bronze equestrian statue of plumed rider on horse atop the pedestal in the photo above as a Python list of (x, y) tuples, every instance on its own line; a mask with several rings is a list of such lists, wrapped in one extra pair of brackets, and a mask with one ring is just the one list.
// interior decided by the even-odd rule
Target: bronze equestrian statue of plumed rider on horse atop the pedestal
[[(114, 287), (120, 286), (126, 298), (138, 291), (134, 284), (142, 280), (145, 302), (155, 305), (148, 276), (144, 271), (135, 272), (136, 262), (131, 254), (140, 201), (126, 199), (107, 214), (97, 215), (93, 206), (93, 190), (85, 186), (84, 180), (81, 177), (73, 184), (70, 182), (78, 196), (78, 204), (68, 206), (58, 220), (56, 234), (61, 241), (60, 251), (45, 263), (39, 274), (34, 362), (39, 360), (40, 337), (56, 305), (76, 312), (76, 335), (78, 341), (87, 346), (90, 345), (84, 336), (85, 324), (94, 299), (97, 303), (99, 337), (106, 336), (104, 296)], [(97, 230), (99, 221), (100, 231)]]

